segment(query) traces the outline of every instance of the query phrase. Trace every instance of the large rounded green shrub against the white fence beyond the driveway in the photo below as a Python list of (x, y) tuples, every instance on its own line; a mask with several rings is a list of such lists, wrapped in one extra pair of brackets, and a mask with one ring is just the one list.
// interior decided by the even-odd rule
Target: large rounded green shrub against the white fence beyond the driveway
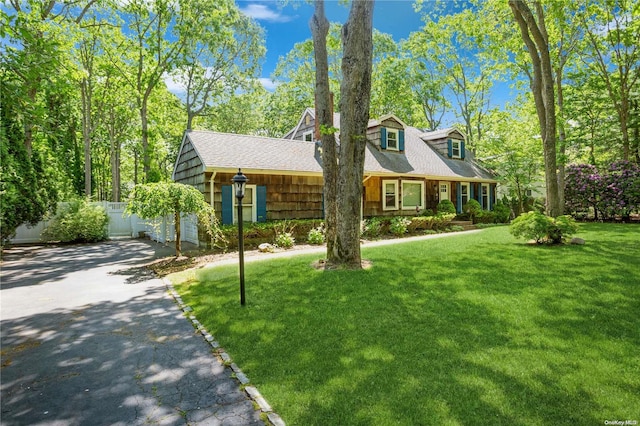
[(109, 236), (109, 216), (104, 207), (92, 205), (86, 199), (61, 206), (42, 232), (45, 241), (92, 243)]

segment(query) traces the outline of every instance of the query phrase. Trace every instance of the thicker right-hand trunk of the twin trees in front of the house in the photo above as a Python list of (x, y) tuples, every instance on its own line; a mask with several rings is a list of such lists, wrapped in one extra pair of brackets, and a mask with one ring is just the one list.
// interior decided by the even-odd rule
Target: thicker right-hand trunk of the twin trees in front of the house
[(340, 264), (356, 269), (362, 267), (360, 217), (371, 98), (373, 6), (373, 0), (352, 2), (342, 27), (336, 245)]

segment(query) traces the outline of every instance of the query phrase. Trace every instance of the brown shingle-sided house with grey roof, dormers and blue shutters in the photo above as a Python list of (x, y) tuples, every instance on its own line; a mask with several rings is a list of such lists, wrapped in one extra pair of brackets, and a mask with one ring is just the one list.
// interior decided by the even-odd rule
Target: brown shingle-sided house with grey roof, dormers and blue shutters
[[(334, 113), (338, 129), (339, 122)], [(315, 124), (315, 110), (307, 108), (283, 138), (187, 131), (173, 179), (202, 191), (223, 224), (236, 221), (231, 179), (238, 168), (249, 179), (245, 220), (322, 218), (322, 147), (315, 142)], [(415, 215), (443, 199), (458, 212), (471, 198), (491, 209), (496, 184), (457, 130), (423, 132), (393, 114), (369, 120), (363, 217)]]

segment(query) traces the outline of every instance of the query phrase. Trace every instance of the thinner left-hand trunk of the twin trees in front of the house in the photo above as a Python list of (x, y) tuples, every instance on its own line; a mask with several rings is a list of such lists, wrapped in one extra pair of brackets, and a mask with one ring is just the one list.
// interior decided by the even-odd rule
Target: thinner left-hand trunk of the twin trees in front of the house
[(336, 138), (333, 132), (333, 102), (329, 88), (329, 61), (327, 56), (327, 34), (329, 21), (324, 14), (324, 0), (316, 0), (315, 12), (309, 22), (313, 37), (313, 51), (316, 61), (316, 122), (319, 123), (319, 134), (316, 140), (322, 143), (322, 178), (324, 185), (324, 220), (327, 241), (327, 261), (336, 263), (338, 252), (336, 246), (337, 232), (337, 200), (338, 157)]

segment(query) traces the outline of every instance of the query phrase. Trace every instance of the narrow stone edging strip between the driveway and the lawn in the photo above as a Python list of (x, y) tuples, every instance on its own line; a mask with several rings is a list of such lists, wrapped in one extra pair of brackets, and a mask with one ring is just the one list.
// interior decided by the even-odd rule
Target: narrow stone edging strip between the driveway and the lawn
[(231, 371), (235, 375), (236, 379), (240, 382), (240, 385), (244, 386), (244, 392), (253, 402), (256, 403), (258, 407), (260, 407), (260, 411), (266, 414), (267, 419), (269, 419), (269, 423), (273, 426), (285, 426), (284, 420), (282, 420), (282, 418), (273, 411), (271, 405), (269, 405), (267, 400), (264, 399), (258, 389), (255, 386), (249, 385), (251, 381), (246, 376), (246, 374), (244, 374), (240, 367), (238, 367), (236, 363), (233, 362), (229, 354), (220, 347), (220, 344), (215, 340), (215, 338), (204, 328), (204, 326), (200, 323), (200, 321), (198, 321), (196, 316), (193, 315), (193, 308), (186, 305), (182, 301), (182, 298), (173, 287), (173, 284), (171, 284), (166, 278), (163, 278), (162, 281), (164, 282), (167, 290), (169, 291), (169, 294), (171, 295), (171, 297), (173, 297), (173, 300), (176, 302), (180, 310), (187, 315), (193, 327), (200, 334), (202, 334), (204, 340), (209, 344), (209, 346), (211, 346), (211, 348), (214, 349), (214, 353), (218, 356), (222, 364), (231, 368)]

